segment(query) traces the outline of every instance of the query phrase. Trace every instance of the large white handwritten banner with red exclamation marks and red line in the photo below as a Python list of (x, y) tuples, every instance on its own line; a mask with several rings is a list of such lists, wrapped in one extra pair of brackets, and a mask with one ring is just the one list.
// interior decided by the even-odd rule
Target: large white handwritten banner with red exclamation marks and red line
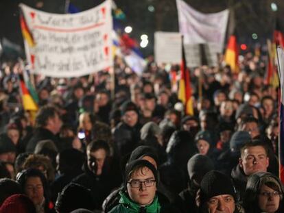
[(78, 77), (113, 66), (111, 1), (76, 14), (51, 14), (20, 4), (31, 72)]

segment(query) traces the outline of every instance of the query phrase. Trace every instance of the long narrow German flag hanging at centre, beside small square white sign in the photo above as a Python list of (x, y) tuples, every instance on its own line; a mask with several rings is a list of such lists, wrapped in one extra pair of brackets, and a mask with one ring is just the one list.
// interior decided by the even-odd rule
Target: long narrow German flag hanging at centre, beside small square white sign
[(193, 101), (191, 98), (190, 73), (185, 60), (185, 49), (182, 42), (182, 62), (180, 64), (180, 84), (178, 87), (178, 99), (185, 105), (185, 114), (193, 115)]

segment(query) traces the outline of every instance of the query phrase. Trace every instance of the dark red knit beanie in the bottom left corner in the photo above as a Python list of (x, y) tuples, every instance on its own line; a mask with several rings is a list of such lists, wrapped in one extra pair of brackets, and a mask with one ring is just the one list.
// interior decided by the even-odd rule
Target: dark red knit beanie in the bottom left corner
[(0, 208), (1, 213), (36, 213), (34, 203), (25, 195), (16, 194), (5, 199)]

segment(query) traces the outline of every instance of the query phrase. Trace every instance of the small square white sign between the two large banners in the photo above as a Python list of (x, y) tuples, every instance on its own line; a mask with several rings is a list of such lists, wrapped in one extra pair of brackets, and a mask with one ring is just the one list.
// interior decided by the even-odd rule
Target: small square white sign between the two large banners
[(155, 32), (154, 55), (158, 64), (180, 64), (182, 60), (182, 35), (178, 32)]

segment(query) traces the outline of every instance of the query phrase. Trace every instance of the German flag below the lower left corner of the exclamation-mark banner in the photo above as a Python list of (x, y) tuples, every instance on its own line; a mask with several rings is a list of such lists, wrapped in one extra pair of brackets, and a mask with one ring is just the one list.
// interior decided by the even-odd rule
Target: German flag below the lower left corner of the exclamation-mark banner
[(19, 76), (19, 84), (21, 88), (22, 93), (22, 101), (23, 101), (23, 108), (26, 111), (37, 111), (38, 105), (36, 104), (36, 101), (32, 98), (32, 95), (29, 93), (29, 90), (27, 89), (27, 86), (25, 85), (25, 82), (23, 80), (23, 76)]

